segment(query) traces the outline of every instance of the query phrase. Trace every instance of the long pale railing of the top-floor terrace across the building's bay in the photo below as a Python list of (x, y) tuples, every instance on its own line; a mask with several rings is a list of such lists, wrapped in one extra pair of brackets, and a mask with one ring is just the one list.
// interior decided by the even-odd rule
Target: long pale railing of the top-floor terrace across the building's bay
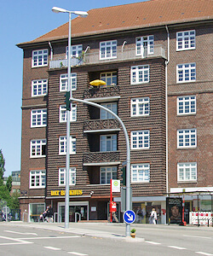
[[(72, 58), (71, 66), (82, 66), (82, 65), (91, 65), (91, 64), (101, 64), (109, 63), (114, 61), (134, 61), (145, 58), (156, 58), (165, 56), (165, 49), (161, 45), (155, 45), (153, 47), (153, 53), (148, 54), (147, 47), (144, 47), (141, 55), (136, 55), (135, 48), (126, 48), (126, 49), (117, 49), (117, 57), (112, 59), (100, 59), (100, 50), (99, 49), (89, 49), (84, 55), (83, 58)], [(67, 67), (68, 60), (60, 59), (49, 61), (49, 68), (60, 68)]]

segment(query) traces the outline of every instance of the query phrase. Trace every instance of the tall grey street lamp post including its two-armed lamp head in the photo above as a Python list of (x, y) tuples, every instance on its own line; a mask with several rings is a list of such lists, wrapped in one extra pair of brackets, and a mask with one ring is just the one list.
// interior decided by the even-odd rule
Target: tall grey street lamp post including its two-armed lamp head
[[(82, 17), (87, 17), (88, 13), (83, 11), (69, 11), (67, 9), (62, 9), (59, 7), (53, 7), (52, 11), (56, 14), (58, 13), (67, 13), (69, 14), (69, 34), (68, 34), (68, 83), (67, 83), (67, 91), (72, 97), (71, 90), (71, 15), (79, 15)], [(71, 101), (72, 104), (72, 101)], [(65, 229), (69, 228), (69, 171), (70, 171), (70, 111), (66, 110), (66, 195), (65, 195)]]

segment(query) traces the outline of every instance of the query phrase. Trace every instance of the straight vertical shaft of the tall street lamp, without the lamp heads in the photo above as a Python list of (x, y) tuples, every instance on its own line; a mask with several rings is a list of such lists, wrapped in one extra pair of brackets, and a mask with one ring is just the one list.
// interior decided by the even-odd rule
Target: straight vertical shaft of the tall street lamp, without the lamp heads
[[(67, 91), (70, 92), (72, 97), (71, 90), (71, 12), (69, 12), (69, 37), (68, 37), (68, 83)], [(70, 172), (70, 111), (66, 110), (66, 195), (65, 195), (65, 229), (69, 228), (69, 172)]]

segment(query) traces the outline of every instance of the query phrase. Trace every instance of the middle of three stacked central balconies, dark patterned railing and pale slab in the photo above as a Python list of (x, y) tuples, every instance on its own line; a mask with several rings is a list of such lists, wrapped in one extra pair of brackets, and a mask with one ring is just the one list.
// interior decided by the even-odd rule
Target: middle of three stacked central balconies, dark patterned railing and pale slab
[(84, 122), (83, 132), (95, 131), (120, 131), (120, 125), (117, 119), (95, 119)]

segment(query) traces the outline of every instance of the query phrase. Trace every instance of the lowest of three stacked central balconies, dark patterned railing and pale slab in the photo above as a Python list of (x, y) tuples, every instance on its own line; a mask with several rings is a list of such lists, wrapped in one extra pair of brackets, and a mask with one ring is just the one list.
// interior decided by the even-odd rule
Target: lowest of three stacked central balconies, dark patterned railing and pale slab
[(120, 153), (118, 151), (83, 154), (83, 166), (110, 166), (118, 164), (120, 164)]

